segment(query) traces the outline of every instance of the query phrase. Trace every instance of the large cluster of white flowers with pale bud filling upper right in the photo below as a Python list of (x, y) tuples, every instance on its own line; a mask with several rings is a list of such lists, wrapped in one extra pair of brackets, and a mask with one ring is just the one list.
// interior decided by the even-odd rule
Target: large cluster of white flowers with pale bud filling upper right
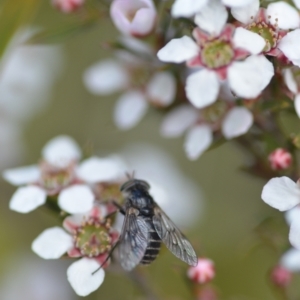
[[(294, 4), (278, 1), (260, 7), (259, 0), (176, 0), (171, 18), (180, 18), (180, 30), (166, 26), (169, 20), (157, 19), (152, 0), (114, 0), (110, 15), (124, 35), (122, 46), (116, 47), (115, 60), (99, 62), (85, 72), (85, 85), (97, 95), (124, 91), (114, 113), (116, 125), (124, 130), (142, 119), (148, 104), (171, 106), (161, 134), (177, 137), (187, 132), (185, 152), (189, 159), (197, 159), (219, 133), (232, 139), (251, 128), (254, 116), (248, 103), (260, 99), (275, 74), (269, 57), (284, 66), (287, 93), (295, 97), (300, 114), (291, 69), (300, 66), (299, 3)], [(148, 43), (134, 39), (148, 35), (153, 37)]]

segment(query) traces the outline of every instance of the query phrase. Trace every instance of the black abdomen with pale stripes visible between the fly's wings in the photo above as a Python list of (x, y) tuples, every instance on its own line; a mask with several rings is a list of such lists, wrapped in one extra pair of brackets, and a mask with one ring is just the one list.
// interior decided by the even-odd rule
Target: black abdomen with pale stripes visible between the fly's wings
[(149, 241), (148, 245), (145, 251), (145, 254), (141, 260), (141, 264), (143, 265), (149, 265), (151, 264), (155, 258), (157, 257), (159, 250), (160, 250), (160, 245), (161, 245), (161, 239), (158, 236), (154, 225), (152, 223), (151, 218), (145, 218), (145, 221), (147, 222), (148, 228), (149, 228)]

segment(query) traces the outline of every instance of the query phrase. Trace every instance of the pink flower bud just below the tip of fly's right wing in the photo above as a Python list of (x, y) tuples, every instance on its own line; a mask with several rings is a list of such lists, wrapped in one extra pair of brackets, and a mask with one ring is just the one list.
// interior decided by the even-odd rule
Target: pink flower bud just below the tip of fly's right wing
[(214, 262), (208, 258), (199, 258), (196, 267), (190, 267), (188, 277), (196, 283), (208, 283), (215, 277)]

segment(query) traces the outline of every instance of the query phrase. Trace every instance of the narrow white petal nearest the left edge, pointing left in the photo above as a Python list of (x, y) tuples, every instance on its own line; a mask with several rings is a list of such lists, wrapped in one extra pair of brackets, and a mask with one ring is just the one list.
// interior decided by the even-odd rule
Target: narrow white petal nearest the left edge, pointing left
[(15, 169), (8, 169), (3, 172), (3, 178), (13, 185), (23, 185), (36, 182), (40, 177), (39, 167), (36, 165)]

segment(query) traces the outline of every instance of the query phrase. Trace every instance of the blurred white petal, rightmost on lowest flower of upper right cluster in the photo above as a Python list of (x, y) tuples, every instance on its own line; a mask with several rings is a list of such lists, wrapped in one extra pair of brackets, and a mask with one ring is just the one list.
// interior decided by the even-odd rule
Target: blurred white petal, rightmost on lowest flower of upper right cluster
[(227, 139), (246, 133), (253, 124), (253, 115), (245, 107), (234, 107), (226, 115), (222, 132)]

